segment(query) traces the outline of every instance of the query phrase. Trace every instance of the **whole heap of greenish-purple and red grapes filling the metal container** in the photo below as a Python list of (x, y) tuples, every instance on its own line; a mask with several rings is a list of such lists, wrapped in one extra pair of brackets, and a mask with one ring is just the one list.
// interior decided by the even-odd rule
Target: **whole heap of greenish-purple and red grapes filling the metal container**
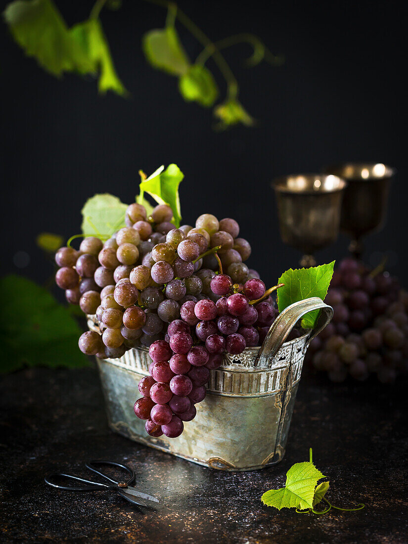
[(134, 412), (151, 436), (174, 438), (195, 417), (210, 370), (224, 353), (261, 345), (277, 310), (272, 289), (244, 263), (251, 246), (237, 221), (203, 214), (195, 227), (175, 228), (171, 219), (169, 206), (147, 217), (131, 204), (126, 227), (106, 242), (91, 236), (79, 251), (57, 251), (55, 281), (69, 302), (96, 315), (100, 332), (83, 333), (83, 353), (120, 358), (149, 348), (150, 376), (139, 383)]

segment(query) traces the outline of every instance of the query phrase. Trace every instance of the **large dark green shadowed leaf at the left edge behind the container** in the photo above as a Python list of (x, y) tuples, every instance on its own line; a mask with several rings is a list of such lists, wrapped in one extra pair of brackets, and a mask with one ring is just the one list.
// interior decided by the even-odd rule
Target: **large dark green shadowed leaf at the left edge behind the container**
[(67, 307), (44, 288), (21, 276), (0, 279), (0, 373), (24, 366), (81, 367), (82, 333)]

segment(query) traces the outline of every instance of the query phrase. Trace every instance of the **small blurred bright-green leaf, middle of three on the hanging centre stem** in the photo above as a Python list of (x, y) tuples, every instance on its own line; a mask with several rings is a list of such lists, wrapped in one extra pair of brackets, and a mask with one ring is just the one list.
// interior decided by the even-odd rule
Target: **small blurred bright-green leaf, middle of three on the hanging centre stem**
[(184, 100), (198, 102), (206, 108), (213, 106), (219, 94), (212, 73), (201, 64), (190, 66), (178, 80), (178, 88)]

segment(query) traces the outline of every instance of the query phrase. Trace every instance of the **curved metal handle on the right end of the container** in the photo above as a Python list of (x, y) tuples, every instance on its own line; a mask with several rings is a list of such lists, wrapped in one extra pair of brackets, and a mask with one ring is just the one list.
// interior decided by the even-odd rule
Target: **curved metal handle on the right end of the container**
[(333, 317), (333, 308), (324, 304), (323, 300), (317, 296), (295, 302), (277, 316), (263, 341), (254, 367), (268, 368), (299, 319), (313, 310), (322, 310), (322, 312), (320, 312), (316, 327), (308, 338), (308, 345), (330, 323)]

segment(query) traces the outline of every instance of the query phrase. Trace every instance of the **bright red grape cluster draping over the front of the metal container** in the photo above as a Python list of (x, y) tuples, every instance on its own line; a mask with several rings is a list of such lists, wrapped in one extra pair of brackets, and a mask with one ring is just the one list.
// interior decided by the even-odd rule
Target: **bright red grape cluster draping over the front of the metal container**
[(221, 366), (225, 351), (237, 355), (258, 345), (259, 333), (262, 342), (276, 317), (270, 300), (250, 304), (265, 295), (265, 284), (259, 279), (233, 285), (230, 276), (220, 274), (210, 285), (221, 298), (184, 302), (181, 319), (169, 324), (165, 340), (150, 345), (150, 376), (139, 382), (142, 397), (134, 412), (147, 420), (145, 429), (151, 436), (180, 436), (183, 422), (196, 415), (194, 405), (206, 396), (209, 371)]

